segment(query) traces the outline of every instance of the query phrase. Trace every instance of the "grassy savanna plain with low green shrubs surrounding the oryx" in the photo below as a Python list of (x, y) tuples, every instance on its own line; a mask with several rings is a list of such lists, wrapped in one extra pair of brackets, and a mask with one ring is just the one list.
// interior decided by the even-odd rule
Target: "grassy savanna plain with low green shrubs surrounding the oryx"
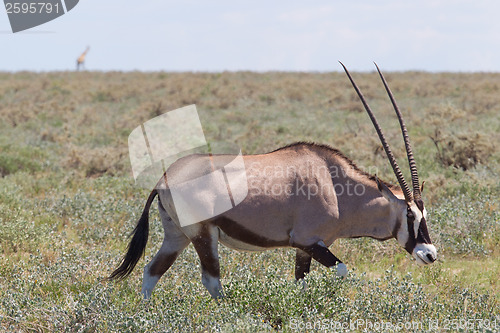
[[(378, 77), (353, 75), (406, 167)], [(144, 302), (142, 267), (163, 237), (155, 209), (145, 260), (123, 282), (104, 280), (123, 255), (148, 194), (131, 175), (131, 130), (196, 104), (209, 141), (235, 142), (246, 154), (295, 141), (325, 143), (395, 183), (347, 78), (0, 73), (0, 330), (290, 332), (340, 330), (332, 326), (337, 322), (359, 323), (348, 327), (354, 331), (369, 323), (375, 325), (370, 331), (498, 331), (500, 74), (386, 77), (426, 181), (438, 262), (417, 267), (395, 240), (342, 240), (332, 252), (349, 276), (339, 280), (313, 263), (303, 289), (294, 283), (294, 251), (248, 254), (221, 246), (227, 297), (215, 301), (201, 284), (190, 246)]]

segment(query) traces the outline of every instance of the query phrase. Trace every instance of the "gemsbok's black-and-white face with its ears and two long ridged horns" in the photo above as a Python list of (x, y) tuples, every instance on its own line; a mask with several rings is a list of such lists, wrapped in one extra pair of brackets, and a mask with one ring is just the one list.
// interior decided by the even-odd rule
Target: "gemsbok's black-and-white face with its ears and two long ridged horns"
[(398, 198), (394, 193), (391, 192), (391, 190), (389, 190), (389, 188), (387, 188), (385, 184), (376, 179), (378, 189), (380, 190), (382, 195), (391, 203), (393, 209), (398, 212), (397, 215), (399, 215), (399, 218), (397, 219), (395, 224), (393, 236), (397, 239), (398, 243), (415, 258), (419, 265), (432, 264), (437, 259), (437, 251), (435, 246), (432, 244), (429, 232), (427, 230), (427, 211), (424, 207), (424, 201), (422, 200), (423, 184), (422, 186), (420, 186), (418, 180), (417, 165), (415, 163), (415, 158), (413, 157), (410, 138), (408, 136), (408, 131), (406, 130), (406, 125), (404, 123), (399, 107), (396, 104), (396, 100), (394, 99), (394, 96), (384, 78), (384, 75), (380, 71), (377, 64), (375, 64), (380, 78), (387, 91), (387, 94), (391, 99), (394, 110), (396, 111), (401, 131), (403, 133), (406, 154), (408, 156), (408, 162), (410, 165), (413, 191), (410, 190), (408, 184), (406, 183), (403, 173), (401, 172), (401, 169), (396, 162), (396, 158), (394, 157), (389, 144), (385, 139), (384, 133), (382, 132), (382, 129), (380, 128), (380, 125), (378, 124), (377, 119), (375, 118), (372, 110), (366, 102), (363, 94), (352, 79), (349, 71), (344, 66), (344, 64), (340, 64), (344, 68), (347, 76), (349, 77), (349, 80), (356, 90), (356, 93), (361, 99), (366, 112), (368, 112), (368, 115), (370, 116), (370, 119), (375, 126), (375, 130), (377, 131), (377, 134), (384, 147), (384, 150), (387, 154), (389, 162), (391, 163), (394, 174), (398, 179), (398, 183), (404, 195), (404, 198)]

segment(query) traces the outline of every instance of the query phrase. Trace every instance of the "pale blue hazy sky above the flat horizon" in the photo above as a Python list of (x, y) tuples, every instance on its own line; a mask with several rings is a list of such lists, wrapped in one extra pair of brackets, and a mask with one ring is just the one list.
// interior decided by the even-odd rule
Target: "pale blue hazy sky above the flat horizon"
[(500, 72), (498, 1), (80, 0), (12, 34), (0, 8), (0, 71)]

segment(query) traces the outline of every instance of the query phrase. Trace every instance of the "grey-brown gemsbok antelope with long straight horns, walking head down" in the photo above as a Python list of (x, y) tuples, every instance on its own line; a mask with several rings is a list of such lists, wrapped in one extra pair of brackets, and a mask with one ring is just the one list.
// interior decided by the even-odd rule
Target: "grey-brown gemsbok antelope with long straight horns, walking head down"
[[(210, 170), (200, 167), (205, 166), (207, 160), (221, 165), (227, 162), (226, 155), (190, 155), (173, 163), (149, 195), (132, 232), (127, 253), (109, 278), (127, 277), (143, 256), (148, 240), (149, 209), (157, 195), (165, 234), (160, 250), (144, 268), (142, 293), (146, 298), (190, 243), (200, 258), (202, 283), (214, 298), (223, 297), (219, 241), (241, 251), (295, 248), (297, 280), (309, 272), (311, 259), (326, 267), (335, 267), (338, 276), (347, 275), (345, 264), (328, 249), (338, 238), (371, 237), (381, 241), (396, 238), (418, 264), (433, 263), (437, 252), (427, 231), (427, 212), (421, 197), (417, 166), (392, 92), (377, 66), (399, 119), (413, 191), (410, 191), (373, 112), (348, 70), (342, 66), (375, 126), (400, 186), (390, 185), (361, 171), (336, 149), (299, 142), (267, 154), (244, 155), (248, 194), (243, 201), (213, 218), (181, 226), (169, 182), (172, 184), (173, 179), (181, 174), (198, 177), (209, 173)], [(203, 196), (196, 195), (197, 200)]]

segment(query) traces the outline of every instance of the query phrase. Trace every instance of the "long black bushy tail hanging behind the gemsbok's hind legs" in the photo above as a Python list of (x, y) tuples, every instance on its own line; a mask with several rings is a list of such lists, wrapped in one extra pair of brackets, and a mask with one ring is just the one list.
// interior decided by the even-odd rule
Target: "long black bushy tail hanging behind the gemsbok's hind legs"
[(120, 266), (108, 277), (108, 280), (125, 279), (132, 273), (135, 265), (137, 265), (139, 259), (144, 255), (149, 236), (149, 208), (157, 194), (158, 192), (154, 189), (149, 195), (141, 218), (137, 222), (134, 231), (130, 234), (133, 237), (128, 245), (127, 254), (123, 257)]

